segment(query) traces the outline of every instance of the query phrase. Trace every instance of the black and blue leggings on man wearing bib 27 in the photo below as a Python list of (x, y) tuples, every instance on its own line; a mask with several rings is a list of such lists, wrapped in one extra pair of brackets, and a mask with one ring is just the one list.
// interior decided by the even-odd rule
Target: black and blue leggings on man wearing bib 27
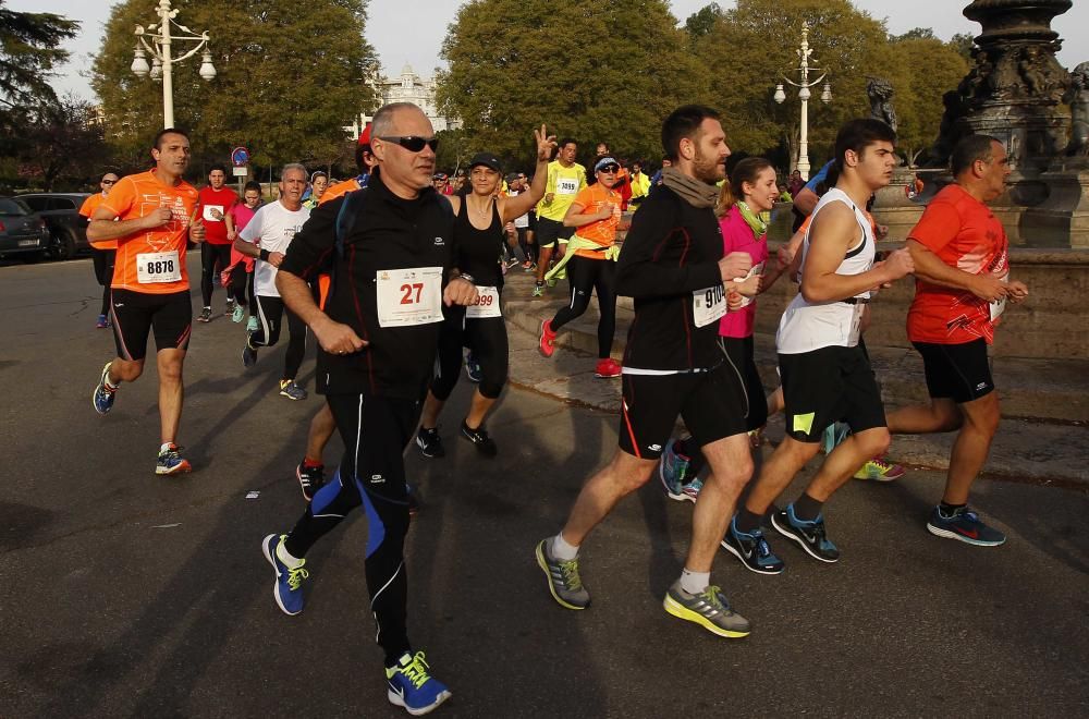
[(408, 484), (404, 450), (416, 435), (423, 405), (363, 394), (330, 394), (326, 400), (344, 441), (344, 456), (287, 535), (284, 548), (292, 557), (305, 557), (314, 543), (363, 504), (367, 514), (367, 592), (378, 623), (377, 641), (389, 667), (412, 651), (406, 627)]

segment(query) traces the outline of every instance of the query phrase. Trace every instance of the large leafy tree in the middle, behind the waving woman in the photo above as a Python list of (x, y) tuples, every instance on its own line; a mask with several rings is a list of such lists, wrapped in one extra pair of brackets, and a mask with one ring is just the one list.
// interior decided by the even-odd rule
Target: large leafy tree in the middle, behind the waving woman
[[(577, 32), (558, 32), (556, 17)], [(657, 158), (662, 119), (698, 95), (702, 74), (665, 0), (472, 0), (442, 57), (438, 101), (461, 118), (466, 147), (519, 162), (542, 122), (589, 151), (604, 141)]]

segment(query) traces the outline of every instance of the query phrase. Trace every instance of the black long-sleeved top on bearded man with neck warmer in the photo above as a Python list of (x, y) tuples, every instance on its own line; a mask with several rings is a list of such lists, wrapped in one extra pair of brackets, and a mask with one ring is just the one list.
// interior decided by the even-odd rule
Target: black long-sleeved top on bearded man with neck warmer
[(694, 292), (722, 288), (722, 230), (710, 208), (693, 207), (665, 185), (643, 202), (616, 267), (616, 294), (635, 301), (625, 371), (722, 363), (718, 320), (696, 327), (693, 306)]

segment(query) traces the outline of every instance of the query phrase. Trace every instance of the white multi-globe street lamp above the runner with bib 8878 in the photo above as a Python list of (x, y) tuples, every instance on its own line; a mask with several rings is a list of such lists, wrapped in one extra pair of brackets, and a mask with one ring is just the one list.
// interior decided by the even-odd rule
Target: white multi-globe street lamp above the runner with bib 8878
[[(211, 64), (211, 52), (208, 51), (208, 33), (197, 35), (185, 25), (174, 21), (178, 16), (176, 10), (171, 10), (170, 0), (159, 0), (155, 10), (159, 16), (159, 22), (148, 25), (146, 28), (136, 26), (136, 52), (131, 70), (137, 77), (151, 75), (151, 80), (162, 80), (162, 126), (174, 126), (174, 75), (173, 65), (192, 58), (200, 50), (200, 70), (197, 74), (205, 81), (216, 77), (216, 68)], [(171, 34), (171, 23), (176, 27), (175, 32), (182, 34)], [(156, 32), (158, 31), (158, 32)], [(150, 42), (148, 42), (150, 38)], [(196, 42), (196, 45), (185, 54), (173, 57), (170, 46), (174, 41)], [(151, 66), (147, 64), (147, 52), (151, 53)]]

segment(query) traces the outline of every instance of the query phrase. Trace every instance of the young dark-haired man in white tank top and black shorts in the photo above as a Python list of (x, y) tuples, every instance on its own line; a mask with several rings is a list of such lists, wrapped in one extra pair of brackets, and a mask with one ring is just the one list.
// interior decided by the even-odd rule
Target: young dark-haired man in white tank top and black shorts
[(776, 337), (786, 437), (735, 517), (738, 532), (759, 533), (768, 508), (820, 450), (824, 428), (845, 422), (852, 435), (828, 455), (805, 492), (771, 517), (780, 534), (824, 562), (840, 557), (824, 535), (824, 502), (889, 447), (881, 391), (858, 325), (873, 290), (914, 270), (906, 249), (873, 261), (873, 231), (862, 212), (870, 195), (892, 180), (894, 142), (895, 133), (877, 120), (853, 120), (836, 136), (840, 179), (813, 210), (803, 244), (802, 292), (783, 314)]

